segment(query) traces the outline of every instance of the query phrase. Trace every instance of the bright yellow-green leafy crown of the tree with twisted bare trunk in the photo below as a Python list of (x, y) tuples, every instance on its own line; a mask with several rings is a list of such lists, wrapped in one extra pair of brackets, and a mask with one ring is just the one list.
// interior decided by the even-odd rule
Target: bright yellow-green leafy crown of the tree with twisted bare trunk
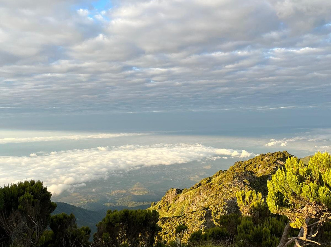
[(272, 213), (286, 215), (295, 228), (301, 228), (307, 217), (320, 217), (319, 210), (331, 206), (330, 154), (318, 152), (308, 165), (288, 158), (285, 169), (278, 170), (268, 182), (266, 201)]

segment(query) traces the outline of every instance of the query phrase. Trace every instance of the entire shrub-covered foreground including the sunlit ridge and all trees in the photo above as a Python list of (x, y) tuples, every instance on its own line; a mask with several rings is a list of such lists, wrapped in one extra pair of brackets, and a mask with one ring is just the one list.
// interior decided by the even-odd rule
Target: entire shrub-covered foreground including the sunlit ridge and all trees
[[(301, 247), (331, 245), (331, 156), (307, 164), (286, 151), (236, 162), (190, 189), (171, 189), (150, 210), (109, 210), (91, 230), (40, 181), (0, 188), (5, 247)], [(160, 217), (162, 216), (162, 217)]]

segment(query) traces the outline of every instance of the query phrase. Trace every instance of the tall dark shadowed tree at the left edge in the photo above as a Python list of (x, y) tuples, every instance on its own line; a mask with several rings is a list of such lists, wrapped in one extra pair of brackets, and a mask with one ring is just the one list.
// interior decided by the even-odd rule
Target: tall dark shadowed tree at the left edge
[[(0, 225), (20, 247), (40, 246), (40, 238), (56, 203), (40, 181), (24, 181), (0, 188)], [(1, 241), (1, 240), (0, 240)]]

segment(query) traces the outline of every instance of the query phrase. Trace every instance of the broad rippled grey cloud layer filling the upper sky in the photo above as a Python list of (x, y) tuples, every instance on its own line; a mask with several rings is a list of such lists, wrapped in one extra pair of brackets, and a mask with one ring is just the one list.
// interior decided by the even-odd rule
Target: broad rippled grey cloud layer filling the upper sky
[(3, 2), (0, 111), (331, 105), (329, 0), (112, 3)]

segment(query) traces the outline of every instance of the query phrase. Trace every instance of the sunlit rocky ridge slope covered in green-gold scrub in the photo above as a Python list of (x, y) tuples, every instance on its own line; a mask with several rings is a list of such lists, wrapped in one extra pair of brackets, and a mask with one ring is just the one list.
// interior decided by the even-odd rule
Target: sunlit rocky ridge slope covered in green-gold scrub
[(189, 189), (170, 189), (150, 208), (160, 213), (160, 235), (163, 239), (175, 240), (176, 226), (185, 224), (189, 229), (184, 236), (185, 241), (192, 231), (217, 225), (220, 215), (239, 213), (236, 192), (254, 189), (266, 196), (267, 180), (288, 157), (291, 155), (286, 151), (262, 154), (247, 161), (238, 161), (228, 170), (218, 171)]

